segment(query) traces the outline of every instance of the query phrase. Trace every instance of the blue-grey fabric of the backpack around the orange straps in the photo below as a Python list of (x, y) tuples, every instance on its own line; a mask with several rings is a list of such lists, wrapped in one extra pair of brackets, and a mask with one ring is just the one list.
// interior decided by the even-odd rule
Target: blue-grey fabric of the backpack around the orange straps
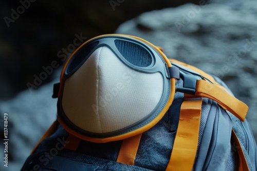
[[(226, 87), (223, 81), (213, 77)], [(177, 84), (182, 83), (182, 80), (177, 81)], [(177, 92), (166, 115), (142, 134), (134, 165), (116, 162), (122, 140), (108, 143), (82, 140), (76, 151), (56, 150), (60, 142), (63, 146), (71, 143), (66, 142), (68, 133), (59, 125), (28, 157), (22, 170), (165, 170), (172, 153), (182, 102), (183, 93)], [(193, 170), (238, 170), (238, 146), (231, 137), (232, 129), (240, 139), (249, 169), (257, 169), (256, 143), (247, 120), (240, 121), (214, 100), (204, 98)]]

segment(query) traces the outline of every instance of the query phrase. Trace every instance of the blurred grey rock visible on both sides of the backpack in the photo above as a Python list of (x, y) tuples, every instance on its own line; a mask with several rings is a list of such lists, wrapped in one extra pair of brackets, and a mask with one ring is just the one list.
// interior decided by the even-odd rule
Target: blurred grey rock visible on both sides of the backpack
[[(254, 1), (215, 2), (146, 12), (116, 32), (149, 40), (161, 46), (168, 57), (222, 78), (235, 96), (249, 105), (247, 119), (257, 137), (257, 6)], [(57, 100), (51, 95), (59, 75), (60, 70), (52, 82), (32, 93), (25, 90), (0, 102), (0, 119), (8, 113), (10, 139), (9, 168), (1, 164), (0, 170), (19, 170), (56, 118)]]

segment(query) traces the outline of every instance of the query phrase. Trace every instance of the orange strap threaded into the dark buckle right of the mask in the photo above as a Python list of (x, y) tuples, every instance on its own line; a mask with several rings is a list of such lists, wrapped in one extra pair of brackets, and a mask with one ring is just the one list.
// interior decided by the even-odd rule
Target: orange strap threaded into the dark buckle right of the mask
[(240, 120), (244, 121), (248, 106), (221, 88), (205, 80), (197, 80), (195, 95), (215, 100), (223, 109), (228, 110)]

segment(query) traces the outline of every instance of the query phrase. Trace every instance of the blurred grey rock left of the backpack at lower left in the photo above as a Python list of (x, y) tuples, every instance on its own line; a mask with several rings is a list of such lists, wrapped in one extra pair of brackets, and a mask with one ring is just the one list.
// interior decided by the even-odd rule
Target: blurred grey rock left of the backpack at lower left
[[(0, 170), (20, 170), (33, 146), (57, 115), (57, 99), (51, 98), (53, 83), (59, 82), (60, 70), (54, 80), (30, 92), (25, 90), (14, 99), (0, 101), (0, 123), (3, 136), (4, 113), (8, 114), (8, 167), (0, 165)], [(1, 137), (2, 137), (1, 136)], [(1, 138), (1, 149), (4, 137)], [(3, 159), (4, 153), (0, 153)]]

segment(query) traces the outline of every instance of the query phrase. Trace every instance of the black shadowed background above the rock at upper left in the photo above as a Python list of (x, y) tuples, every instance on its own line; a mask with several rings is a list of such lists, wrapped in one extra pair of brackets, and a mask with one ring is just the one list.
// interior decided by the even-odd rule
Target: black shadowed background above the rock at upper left
[[(176, 7), (183, 1), (1, 1), (0, 94), (10, 98), (27, 89), (34, 74), (44, 72), (58, 52), (73, 44), (75, 34), (87, 39), (114, 33), (128, 19), (155, 9)], [(71, 48), (71, 47), (70, 47)], [(70, 51), (68, 51), (69, 53)], [(49, 82), (49, 75), (43, 83)]]

